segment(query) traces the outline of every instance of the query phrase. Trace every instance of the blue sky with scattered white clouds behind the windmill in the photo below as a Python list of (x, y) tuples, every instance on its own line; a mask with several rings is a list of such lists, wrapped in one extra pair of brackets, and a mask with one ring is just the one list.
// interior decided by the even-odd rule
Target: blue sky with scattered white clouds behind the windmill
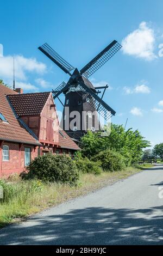
[(69, 77), (38, 46), (47, 42), (81, 69), (116, 39), (123, 50), (91, 81), (109, 84), (104, 100), (116, 111), (112, 123), (128, 118), (127, 128), (139, 129), (152, 144), (163, 142), (162, 11), (161, 0), (1, 1), (0, 78), (12, 85), (15, 56), (16, 86), (49, 91)]

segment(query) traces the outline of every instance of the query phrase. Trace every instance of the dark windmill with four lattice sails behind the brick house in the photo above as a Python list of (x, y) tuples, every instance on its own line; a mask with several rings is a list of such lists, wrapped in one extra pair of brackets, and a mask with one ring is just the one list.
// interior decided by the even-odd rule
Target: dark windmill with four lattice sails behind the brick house
[[(51, 59), (52, 62), (58, 65), (66, 74), (70, 75), (68, 82), (62, 82), (52, 91), (52, 94), (54, 99), (59, 99), (61, 93), (65, 95), (65, 103), (62, 103), (59, 99), (62, 106), (64, 106), (62, 126), (72, 138), (79, 139), (87, 130), (99, 131), (101, 124), (99, 123), (98, 114), (106, 121), (112, 115), (115, 115), (114, 109), (103, 101), (108, 85), (94, 87), (88, 78), (114, 56), (121, 47), (116, 40), (112, 41), (80, 71), (63, 59), (47, 43), (39, 47), (39, 50)], [(98, 96), (101, 93), (99, 89), (104, 89), (101, 97)], [(79, 113), (78, 117), (75, 113)]]

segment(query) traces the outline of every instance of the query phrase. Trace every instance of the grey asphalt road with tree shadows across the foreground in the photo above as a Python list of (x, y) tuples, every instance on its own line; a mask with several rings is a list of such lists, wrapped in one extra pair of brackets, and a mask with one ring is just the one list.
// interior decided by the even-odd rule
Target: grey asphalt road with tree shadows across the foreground
[(1, 229), (0, 244), (163, 245), (160, 186), (163, 166), (155, 166)]

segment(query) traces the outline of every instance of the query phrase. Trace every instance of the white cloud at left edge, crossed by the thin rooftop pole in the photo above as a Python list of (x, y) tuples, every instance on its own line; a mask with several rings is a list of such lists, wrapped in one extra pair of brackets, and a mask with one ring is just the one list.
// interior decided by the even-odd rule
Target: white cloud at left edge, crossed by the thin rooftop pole
[[(42, 74), (46, 71), (46, 65), (37, 62), (35, 58), (25, 58), (21, 55), (15, 56), (15, 77), (18, 80), (26, 80), (26, 72)], [(11, 80), (13, 77), (13, 57), (0, 57), (0, 77), (3, 80)]]

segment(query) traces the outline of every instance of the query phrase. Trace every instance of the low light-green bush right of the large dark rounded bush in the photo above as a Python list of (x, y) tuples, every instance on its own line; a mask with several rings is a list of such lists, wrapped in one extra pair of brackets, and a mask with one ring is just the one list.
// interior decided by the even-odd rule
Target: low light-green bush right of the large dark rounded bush
[(79, 158), (76, 160), (76, 165), (78, 167), (79, 172), (82, 173), (93, 173), (93, 174), (101, 174), (102, 168), (101, 168), (101, 162), (93, 162), (87, 159), (86, 157)]

